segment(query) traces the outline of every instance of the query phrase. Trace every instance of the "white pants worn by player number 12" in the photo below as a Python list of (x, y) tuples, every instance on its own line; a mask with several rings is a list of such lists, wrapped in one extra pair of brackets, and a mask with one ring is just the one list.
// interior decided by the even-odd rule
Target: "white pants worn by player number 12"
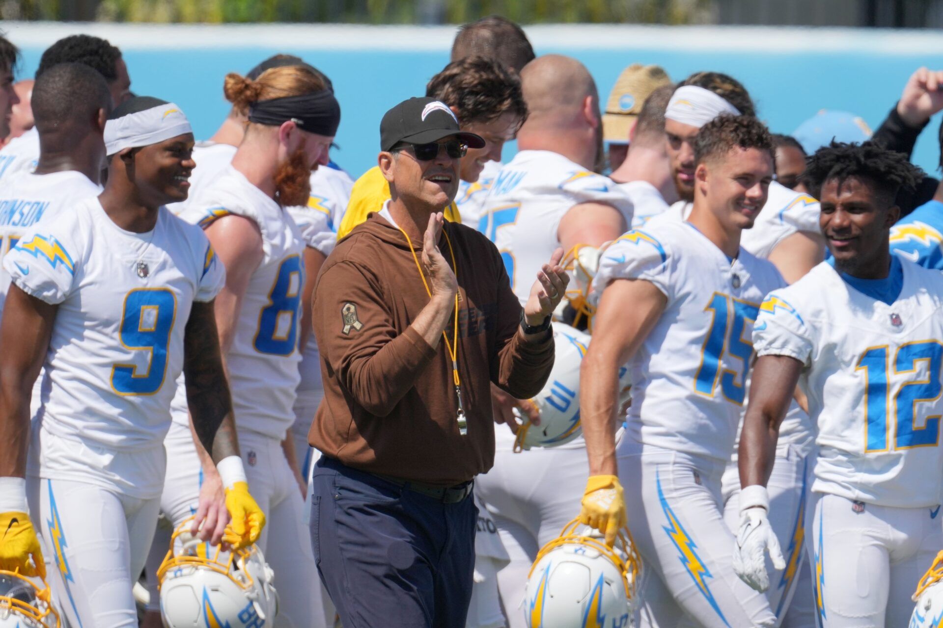
[(876, 506), (814, 492), (809, 510), (819, 626), (906, 626), (915, 583), (943, 547), (938, 507)]

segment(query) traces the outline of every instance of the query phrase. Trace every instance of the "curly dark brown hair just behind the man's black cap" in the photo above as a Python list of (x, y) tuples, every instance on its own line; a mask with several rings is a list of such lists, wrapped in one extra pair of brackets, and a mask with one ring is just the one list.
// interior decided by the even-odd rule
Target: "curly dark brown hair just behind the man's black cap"
[(521, 128), (527, 118), (521, 79), (485, 56), (466, 56), (445, 66), (429, 81), (425, 95), (455, 107), (462, 124), (492, 121), (511, 112)]

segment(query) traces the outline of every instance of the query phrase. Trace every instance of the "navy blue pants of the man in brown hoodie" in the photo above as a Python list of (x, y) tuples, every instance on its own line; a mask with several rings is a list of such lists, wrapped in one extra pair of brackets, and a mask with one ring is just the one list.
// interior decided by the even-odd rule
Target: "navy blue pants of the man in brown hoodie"
[(344, 628), (464, 628), (477, 520), (472, 495), (443, 504), (318, 460), (311, 546)]

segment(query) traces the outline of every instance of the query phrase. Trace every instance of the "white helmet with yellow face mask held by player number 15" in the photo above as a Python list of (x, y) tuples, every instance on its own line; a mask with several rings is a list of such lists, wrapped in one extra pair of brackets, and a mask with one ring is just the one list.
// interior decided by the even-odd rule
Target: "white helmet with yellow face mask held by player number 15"
[(628, 529), (609, 548), (574, 519), (540, 549), (531, 567), (524, 620), (528, 628), (630, 628), (640, 569)]

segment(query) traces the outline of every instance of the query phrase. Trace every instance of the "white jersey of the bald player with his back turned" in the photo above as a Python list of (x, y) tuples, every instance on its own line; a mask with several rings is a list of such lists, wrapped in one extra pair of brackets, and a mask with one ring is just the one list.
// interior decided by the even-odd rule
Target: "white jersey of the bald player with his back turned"
[(479, 231), (501, 251), (511, 289), (527, 301), (540, 266), (560, 246), (556, 230), (573, 205), (602, 202), (632, 224), (632, 201), (612, 179), (559, 153), (521, 151), (494, 180)]

